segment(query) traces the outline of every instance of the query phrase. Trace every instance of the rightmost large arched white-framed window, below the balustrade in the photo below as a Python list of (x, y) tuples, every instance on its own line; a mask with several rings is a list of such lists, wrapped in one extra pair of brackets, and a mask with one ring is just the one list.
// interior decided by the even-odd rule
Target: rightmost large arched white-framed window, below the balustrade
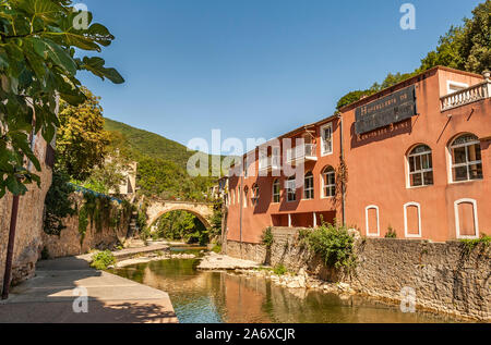
[(464, 134), (451, 145), (452, 181), (482, 178), (481, 144), (474, 134)]

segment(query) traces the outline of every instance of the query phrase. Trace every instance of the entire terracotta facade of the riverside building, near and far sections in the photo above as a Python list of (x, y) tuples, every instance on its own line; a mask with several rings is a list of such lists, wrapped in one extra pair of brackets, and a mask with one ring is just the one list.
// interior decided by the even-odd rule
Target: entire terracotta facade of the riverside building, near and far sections
[[(392, 226), (397, 237), (405, 237), (404, 205), (418, 202), (421, 215), (421, 238), (446, 241), (456, 237), (454, 202), (462, 198), (477, 201), (479, 231), (491, 232), (491, 99), (481, 100), (450, 111), (441, 112), (440, 97), (446, 95), (447, 79), (479, 84), (482, 78), (465, 72), (433, 69), (415, 79), (410, 79), (392, 89), (382, 91), (352, 106), (343, 109), (344, 150), (348, 167), (346, 194), (346, 222), (367, 234), (366, 208), (379, 208), (380, 236), (384, 236)], [(409, 85), (416, 84), (418, 115), (397, 123), (392, 127), (373, 131), (358, 137), (355, 134), (355, 109), (376, 98), (384, 97)], [(450, 116), (452, 115), (452, 116)], [(333, 122), (333, 153), (321, 156), (320, 128), (326, 122)], [(240, 208), (237, 199), (239, 177), (231, 177), (229, 190), (236, 195), (229, 206), (228, 239), (247, 243), (260, 242), (266, 226), (288, 225), (288, 213), (294, 226), (311, 226), (313, 212), (324, 212), (324, 220), (342, 218), (340, 198), (321, 198), (321, 172), (326, 165), (338, 168), (340, 147), (340, 126), (337, 118), (326, 119), (315, 124), (318, 161), (306, 163), (306, 172), (314, 175), (314, 199), (302, 200), (303, 189), (297, 190), (297, 201), (287, 202), (284, 177), (282, 181), (282, 202), (272, 204), (273, 177), (251, 176), (243, 180), (243, 186), (260, 186), (260, 201), (253, 207), (250, 201), (242, 210), (242, 236), (240, 236)], [(301, 137), (300, 131), (291, 138)], [(481, 138), (483, 180), (450, 183), (448, 144), (459, 134), (472, 133)], [(488, 139), (486, 139), (488, 138)], [(434, 185), (408, 188), (406, 155), (418, 144), (432, 149)], [(258, 171), (258, 161), (255, 169)], [(243, 189), (242, 189), (243, 192)], [(412, 213), (411, 213), (412, 211)], [(372, 211), (371, 211), (372, 212)], [(408, 209), (409, 232), (415, 229), (414, 210)], [(411, 217), (412, 214), (412, 217)], [(370, 215), (370, 214), (369, 214)], [(327, 219), (326, 219), (327, 218)], [(376, 219), (371, 223), (376, 223)], [(319, 222), (318, 222), (319, 224)], [(414, 233), (415, 231), (412, 231)]]

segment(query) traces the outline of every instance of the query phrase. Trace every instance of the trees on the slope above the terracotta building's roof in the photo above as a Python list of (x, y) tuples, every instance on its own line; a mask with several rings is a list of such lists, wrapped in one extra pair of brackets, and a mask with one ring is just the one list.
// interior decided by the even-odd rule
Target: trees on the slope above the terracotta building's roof
[(474, 11), (471, 19), (465, 19), (462, 26), (452, 26), (440, 37), (435, 50), (430, 51), (421, 65), (414, 72), (388, 73), (382, 84), (373, 84), (366, 90), (350, 91), (343, 96), (336, 109), (358, 101), (362, 97), (373, 95), (384, 88), (404, 82), (421, 72), (436, 65), (452, 69), (482, 73), (491, 67), (491, 0), (480, 3)]

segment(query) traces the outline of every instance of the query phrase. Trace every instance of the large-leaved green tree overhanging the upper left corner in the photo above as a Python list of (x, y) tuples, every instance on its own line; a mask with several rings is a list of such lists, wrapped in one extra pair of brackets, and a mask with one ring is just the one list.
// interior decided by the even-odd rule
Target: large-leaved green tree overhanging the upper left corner
[(22, 195), (27, 184), (39, 185), (24, 164), (26, 158), (40, 171), (29, 135), (40, 132), (50, 143), (59, 125), (58, 99), (74, 107), (86, 99), (79, 71), (124, 82), (104, 59), (75, 57), (75, 51), (100, 52), (115, 39), (92, 19), (70, 0), (0, 0), (0, 198), (7, 189)]

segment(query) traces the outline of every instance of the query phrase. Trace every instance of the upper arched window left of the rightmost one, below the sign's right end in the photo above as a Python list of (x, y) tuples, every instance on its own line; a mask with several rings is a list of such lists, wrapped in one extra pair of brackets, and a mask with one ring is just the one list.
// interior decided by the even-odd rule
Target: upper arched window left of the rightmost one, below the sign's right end
[(433, 185), (433, 161), (431, 148), (427, 145), (415, 147), (407, 157), (409, 165), (409, 185), (411, 187)]

